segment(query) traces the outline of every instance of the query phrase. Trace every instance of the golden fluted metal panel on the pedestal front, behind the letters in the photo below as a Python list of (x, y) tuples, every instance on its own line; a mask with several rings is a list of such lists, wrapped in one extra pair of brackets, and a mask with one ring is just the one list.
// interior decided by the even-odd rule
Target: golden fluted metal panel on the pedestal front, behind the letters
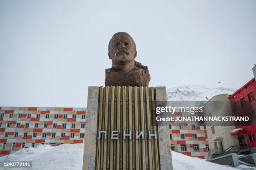
[[(97, 132), (107, 131), (97, 140), (97, 170), (159, 170), (159, 145), (148, 139), (158, 128), (151, 125), (151, 104), (155, 101), (153, 87), (100, 87)], [(119, 131), (119, 139), (111, 140), (111, 131)], [(123, 139), (123, 130), (132, 132), (132, 139)], [(145, 139), (136, 140), (136, 130), (144, 131)], [(158, 135), (158, 132), (157, 132)]]

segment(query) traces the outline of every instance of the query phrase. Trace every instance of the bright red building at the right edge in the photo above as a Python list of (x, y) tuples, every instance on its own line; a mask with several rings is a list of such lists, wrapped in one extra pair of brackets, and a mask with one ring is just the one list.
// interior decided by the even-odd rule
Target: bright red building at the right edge
[[(233, 116), (248, 116), (248, 122), (236, 122), (231, 135), (237, 135), (240, 147), (256, 153), (256, 82), (255, 78), (229, 96)], [(248, 123), (248, 124), (246, 124)]]

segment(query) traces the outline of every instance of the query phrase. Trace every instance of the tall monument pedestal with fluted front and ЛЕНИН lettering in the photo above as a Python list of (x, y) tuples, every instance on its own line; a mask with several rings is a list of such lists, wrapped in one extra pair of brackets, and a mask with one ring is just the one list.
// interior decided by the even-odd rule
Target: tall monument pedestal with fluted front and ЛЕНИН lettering
[(169, 128), (153, 126), (165, 87), (89, 87), (83, 170), (172, 170)]

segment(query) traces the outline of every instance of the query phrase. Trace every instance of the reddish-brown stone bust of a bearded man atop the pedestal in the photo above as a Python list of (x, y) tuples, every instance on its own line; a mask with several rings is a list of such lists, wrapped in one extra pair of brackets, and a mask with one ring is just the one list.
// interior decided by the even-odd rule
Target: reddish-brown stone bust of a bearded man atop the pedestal
[(108, 45), (112, 68), (106, 69), (105, 86), (148, 86), (148, 67), (134, 61), (136, 45), (128, 33), (115, 33)]

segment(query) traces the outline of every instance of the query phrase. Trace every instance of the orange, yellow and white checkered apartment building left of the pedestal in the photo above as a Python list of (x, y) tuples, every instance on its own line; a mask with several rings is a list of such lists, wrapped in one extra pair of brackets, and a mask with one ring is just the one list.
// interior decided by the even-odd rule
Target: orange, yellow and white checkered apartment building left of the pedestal
[(36, 147), (84, 142), (85, 108), (0, 107), (0, 156)]

